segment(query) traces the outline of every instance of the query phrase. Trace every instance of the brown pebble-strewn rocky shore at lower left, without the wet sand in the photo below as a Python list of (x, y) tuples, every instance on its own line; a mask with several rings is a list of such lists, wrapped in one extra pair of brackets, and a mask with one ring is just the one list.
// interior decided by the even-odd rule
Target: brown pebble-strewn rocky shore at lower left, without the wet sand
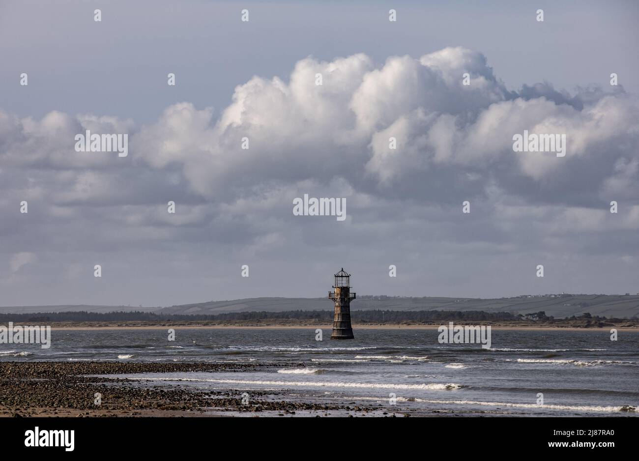
[[(300, 366), (303, 364), (291, 364)], [(295, 414), (300, 411), (353, 411), (374, 407), (319, 405), (273, 399), (252, 391), (243, 404), (240, 391), (194, 391), (184, 387), (132, 386), (112, 374), (234, 372), (268, 365), (212, 363), (0, 362), (0, 416), (209, 416), (225, 412)], [(100, 375), (88, 377), (86, 375)], [(104, 375), (104, 376), (103, 376)], [(98, 396), (99, 395), (99, 398)], [(97, 399), (97, 400), (96, 400)]]

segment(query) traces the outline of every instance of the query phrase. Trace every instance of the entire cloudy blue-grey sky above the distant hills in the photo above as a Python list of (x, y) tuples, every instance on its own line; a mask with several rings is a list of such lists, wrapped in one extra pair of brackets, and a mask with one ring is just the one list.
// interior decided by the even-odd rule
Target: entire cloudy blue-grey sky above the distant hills
[[(360, 294), (639, 292), (638, 19), (633, 1), (0, 0), (0, 305), (319, 297), (342, 267)], [(86, 130), (128, 155), (76, 151)], [(514, 151), (524, 130), (566, 135), (566, 156)], [(304, 194), (346, 218), (296, 216)]]

